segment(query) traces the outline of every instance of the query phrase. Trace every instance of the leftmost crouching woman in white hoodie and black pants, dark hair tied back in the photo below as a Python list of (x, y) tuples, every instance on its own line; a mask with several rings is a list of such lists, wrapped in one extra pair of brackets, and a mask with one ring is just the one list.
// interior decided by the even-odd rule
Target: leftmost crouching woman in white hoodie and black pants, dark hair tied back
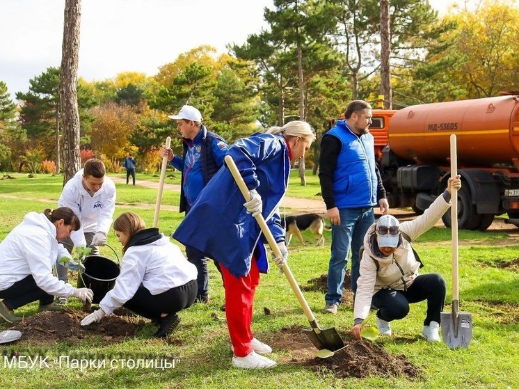
[(40, 301), (41, 310), (61, 310), (54, 296), (75, 296), (92, 301), (93, 292), (74, 288), (58, 280), (52, 267), (61, 257), (70, 257), (58, 240), (70, 237), (80, 223), (72, 209), (45, 209), (42, 214), (29, 212), (0, 243), (0, 318), (13, 323), (21, 318), (13, 310)]

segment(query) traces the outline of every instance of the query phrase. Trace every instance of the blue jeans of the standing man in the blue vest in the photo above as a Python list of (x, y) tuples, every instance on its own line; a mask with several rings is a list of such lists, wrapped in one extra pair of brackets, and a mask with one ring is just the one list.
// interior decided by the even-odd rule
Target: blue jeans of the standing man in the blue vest
[(357, 290), (359, 277), (359, 250), (369, 226), (375, 222), (373, 207), (339, 209), (340, 225), (332, 225), (332, 250), (328, 267), (326, 303), (340, 304), (342, 284), (351, 248), (351, 289)]

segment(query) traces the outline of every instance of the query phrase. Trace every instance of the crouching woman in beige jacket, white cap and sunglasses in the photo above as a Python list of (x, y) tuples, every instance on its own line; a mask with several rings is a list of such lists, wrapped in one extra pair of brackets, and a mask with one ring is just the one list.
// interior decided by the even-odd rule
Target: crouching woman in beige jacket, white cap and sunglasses
[(360, 340), (362, 321), (372, 306), (377, 309), (378, 331), (391, 335), (390, 321), (406, 317), (410, 303), (427, 300), (421, 335), (429, 342), (440, 342), (438, 328), (445, 303), (445, 280), (436, 273), (418, 275), (420, 262), (410, 242), (432, 228), (449, 209), (453, 188), (461, 188), (459, 175), (449, 178), (445, 192), (416, 219), (399, 223), (394, 216), (384, 215), (369, 228), (360, 260), (353, 338)]

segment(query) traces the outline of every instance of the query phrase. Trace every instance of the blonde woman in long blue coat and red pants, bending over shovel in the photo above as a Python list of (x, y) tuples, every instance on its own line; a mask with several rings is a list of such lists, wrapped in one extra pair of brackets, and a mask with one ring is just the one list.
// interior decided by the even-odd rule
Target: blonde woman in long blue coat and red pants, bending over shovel
[(182, 244), (214, 258), (221, 266), (235, 367), (276, 365), (258, 355), (269, 354), (272, 349), (255, 339), (250, 328), (259, 272), (266, 273), (269, 269), (264, 245), (259, 241), (261, 230), (253, 216), (261, 213), (269, 225), (284, 254), (276, 259), (281, 267), (288, 252), (278, 206), (287, 191), (291, 162), (304, 157), (314, 139), (310, 125), (297, 120), (271, 129), (269, 134), (253, 134), (234, 143), (227, 154), (250, 191), (250, 201), (243, 204), (243, 196), (224, 165), (200, 192), (173, 235)]

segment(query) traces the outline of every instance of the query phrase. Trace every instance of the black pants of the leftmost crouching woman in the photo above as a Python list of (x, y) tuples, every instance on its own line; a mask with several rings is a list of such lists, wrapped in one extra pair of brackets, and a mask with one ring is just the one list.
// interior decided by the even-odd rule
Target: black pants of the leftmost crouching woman
[(10, 310), (40, 300), (40, 305), (47, 305), (54, 301), (54, 296), (40, 289), (33, 276), (26, 276), (5, 290), (0, 290), (0, 299)]

